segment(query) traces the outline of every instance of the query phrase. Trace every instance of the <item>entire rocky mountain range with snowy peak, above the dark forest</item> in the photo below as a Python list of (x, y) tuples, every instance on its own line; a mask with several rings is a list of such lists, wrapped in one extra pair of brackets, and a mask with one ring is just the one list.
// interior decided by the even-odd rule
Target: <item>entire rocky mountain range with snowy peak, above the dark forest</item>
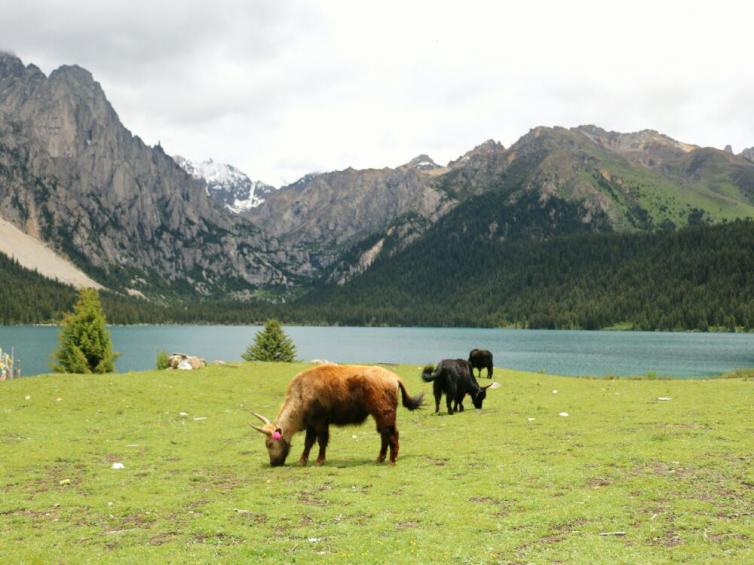
[[(734, 155), (652, 130), (537, 127), (446, 165), (419, 155), (276, 189), (148, 146), (78, 66), (46, 76), (0, 54), (0, 204), (3, 220), (117, 292), (290, 300), (348, 286), (378, 263), (421, 262), (416, 249), (428, 242), (456, 249), (446, 243), (751, 218), (754, 148)], [(473, 270), (464, 253), (453, 260)]]

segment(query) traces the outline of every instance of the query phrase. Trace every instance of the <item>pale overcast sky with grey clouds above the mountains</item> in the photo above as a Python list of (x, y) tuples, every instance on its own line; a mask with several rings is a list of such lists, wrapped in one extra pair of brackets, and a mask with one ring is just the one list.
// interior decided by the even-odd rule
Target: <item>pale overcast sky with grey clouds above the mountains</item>
[(0, 0), (0, 48), (89, 69), (171, 154), (280, 185), (537, 125), (754, 146), (750, 2)]

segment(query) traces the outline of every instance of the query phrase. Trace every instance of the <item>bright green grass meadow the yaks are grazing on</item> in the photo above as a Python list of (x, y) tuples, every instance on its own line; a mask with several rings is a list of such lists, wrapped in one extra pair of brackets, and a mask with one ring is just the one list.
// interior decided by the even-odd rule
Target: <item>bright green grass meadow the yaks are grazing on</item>
[(395, 467), (370, 421), (272, 469), (247, 410), (303, 367), (0, 383), (0, 562), (754, 562), (750, 372), (499, 371), (482, 411), (399, 408)]

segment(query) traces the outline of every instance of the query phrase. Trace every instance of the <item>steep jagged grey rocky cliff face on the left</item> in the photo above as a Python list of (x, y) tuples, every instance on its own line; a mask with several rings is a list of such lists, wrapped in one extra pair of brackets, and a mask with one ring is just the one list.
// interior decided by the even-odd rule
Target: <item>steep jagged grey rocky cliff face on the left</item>
[(132, 135), (77, 66), (47, 77), (0, 54), (0, 180), (6, 220), (109, 286), (287, 285), (286, 266), (306, 264), (212, 206), (204, 183)]

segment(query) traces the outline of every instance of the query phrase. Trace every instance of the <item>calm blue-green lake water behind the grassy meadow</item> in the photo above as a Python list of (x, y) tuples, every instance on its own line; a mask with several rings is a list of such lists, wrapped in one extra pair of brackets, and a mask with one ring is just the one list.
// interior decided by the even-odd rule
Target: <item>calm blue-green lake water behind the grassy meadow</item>
[[(259, 326), (113, 326), (119, 372), (152, 369), (157, 352), (239, 361)], [(300, 359), (342, 363), (436, 363), (489, 349), (495, 366), (560, 375), (704, 377), (754, 367), (754, 334), (556, 331), (475, 328), (286, 326)], [(58, 329), (0, 327), (23, 375), (50, 371)]]

